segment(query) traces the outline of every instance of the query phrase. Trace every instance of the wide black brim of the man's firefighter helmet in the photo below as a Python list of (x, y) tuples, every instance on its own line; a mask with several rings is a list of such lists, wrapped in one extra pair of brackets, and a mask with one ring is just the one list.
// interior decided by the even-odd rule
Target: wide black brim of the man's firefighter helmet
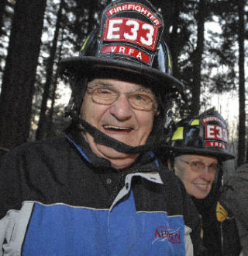
[[(67, 75), (69, 73), (75, 75), (87, 76), (95, 72), (95, 68), (112, 71), (125, 71), (132, 75), (137, 75), (137, 79), (142, 78), (144, 81), (152, 81), (149, 86), (154, 89), (165, 89), (172, 92), (184, 92), (184, 85), (175, 79), (172, 75), (160, 72), (158, 69), (139, 65), (130, 61), (121, 61), (110, 58), (99, 58), (94, 56), (64, 58), (60, 61), (60, 74)], [(160, 86), (160, 88), (158, 88)]]

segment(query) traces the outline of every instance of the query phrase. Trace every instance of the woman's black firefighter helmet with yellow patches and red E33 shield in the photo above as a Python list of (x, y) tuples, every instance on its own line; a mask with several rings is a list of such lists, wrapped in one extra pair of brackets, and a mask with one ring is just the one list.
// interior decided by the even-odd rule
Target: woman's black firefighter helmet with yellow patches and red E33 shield
[(220, 162), (235, 158), (229, 153), (228, 125), (214, 108), (179, 121), (167, 142), (172, 156), (215, 156)]

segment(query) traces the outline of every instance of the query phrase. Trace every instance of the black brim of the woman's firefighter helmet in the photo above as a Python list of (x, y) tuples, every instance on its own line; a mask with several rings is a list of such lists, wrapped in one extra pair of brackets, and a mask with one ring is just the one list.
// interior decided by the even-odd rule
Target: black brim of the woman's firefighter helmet
[[(170, 148), (170, 146), (167, 146), (166, 148), (168, 149)], [(190, 146), (187, 146), (184, 148), (173, 146), (171, 147), (171, 152), (173, 152), (174, 156), (192, 155), (192, 154), (201, 155), (201, 156), (213, 156), (213, 157), (216, 157), (221, 162), (235, 159), (235, 156), (229, 153), (222, 153), (214, 149), (197, 149), (195, 147), (190, 147)]]

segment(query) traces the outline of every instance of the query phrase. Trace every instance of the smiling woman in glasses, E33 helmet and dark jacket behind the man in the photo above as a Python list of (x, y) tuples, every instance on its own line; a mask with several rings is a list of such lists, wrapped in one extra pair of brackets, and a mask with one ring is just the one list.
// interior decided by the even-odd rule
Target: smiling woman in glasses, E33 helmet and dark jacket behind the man
[(214, 108), (185, 118), (177, 123), (168, 143), (168, 166), (181, 179), (198, 209), (208, 254), (239, 255), (235, 220), (223, 217), (226, 210), (218, 202), (222, 162), (234, 158), (229, 153), (226, 121)]

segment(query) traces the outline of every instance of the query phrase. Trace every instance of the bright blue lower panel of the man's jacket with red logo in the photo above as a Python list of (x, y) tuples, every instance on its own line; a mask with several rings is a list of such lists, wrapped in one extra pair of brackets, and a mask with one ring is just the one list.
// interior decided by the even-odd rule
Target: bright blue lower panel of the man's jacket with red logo
[(35, 203), (22, 255), (179, 256), (184, 247), (183, 218), (136, 212), (131, 193), (112, 211)]

